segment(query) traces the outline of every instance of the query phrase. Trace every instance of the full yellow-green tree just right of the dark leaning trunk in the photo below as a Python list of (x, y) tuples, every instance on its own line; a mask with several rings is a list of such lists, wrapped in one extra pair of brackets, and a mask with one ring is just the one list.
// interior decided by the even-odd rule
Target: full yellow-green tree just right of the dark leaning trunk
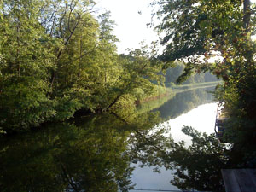
[[(68, 21), (65, 25), (72, 26), (76, 19)], [(70, 22), (70, 24), (68, 24)], [(69, 33), (67, 31), (67, 33)], [(95, 108), (91, 96), (96, 87), (96, 49), (97, 49), (98, 23), (90, 15), (81, 15), (81, 20), (73, 32), (72, 38), (62, 50), (55, 70), (55, 85), (51, 96), (58, 102), (59, 116), (56, 119), (67, 119), (79, 108), (93, 110)], [(64, 107), (64, 108), (63, 108)], [(62, 112), (62, 113), (61, 113)]]

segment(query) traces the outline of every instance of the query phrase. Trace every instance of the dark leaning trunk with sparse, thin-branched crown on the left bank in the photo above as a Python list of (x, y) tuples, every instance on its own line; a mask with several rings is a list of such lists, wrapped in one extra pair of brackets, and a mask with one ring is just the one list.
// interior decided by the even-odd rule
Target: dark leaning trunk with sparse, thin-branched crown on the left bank
[(47, 7), (42, 16), (42, 25), (45, 32), (49, 33), (51, 37), (59, 38), (61, 44), (55, 52), (55, 63), (51, 69), (51, 78), (49, 79), (49, 95), (55, 96), (55, 79), (58, 71), (61, 68), (60, 60), (67, 45), (73, 39), (74, 33), (78, 30), (79, 26), (84, 25), (88, 20), (88, 16), (92, 11), (95, 3), (90, 0), (49, 0)]

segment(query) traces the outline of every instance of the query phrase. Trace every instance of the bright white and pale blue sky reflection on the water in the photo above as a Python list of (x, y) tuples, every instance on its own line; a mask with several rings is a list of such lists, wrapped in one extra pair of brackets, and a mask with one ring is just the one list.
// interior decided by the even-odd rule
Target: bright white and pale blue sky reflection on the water
[[(192, 126), (197, 131), (211, 134), (214, 132), (214, 124), (216, 118), (217, 103), (207, 103), (190, 110), (188, 113), (183, 113), (175, 119), (169, 119), (160, 124), (160, 127), (171, 127), (171, 131), (166, 135), (171, 134), (175, 142), (185, 141), (187, 145), (191, 143), (191, 137), (186, 136), (181, 129), (184, 125)], [(153, 172), (154, 167), (140, 168), (137, 165), (133, 171), (132, 183), (136, 183), (135, 189), (162, 189), (162, 190), (178, 190), (170, 181), (172, 180), (172, 171), (161, 168), (161, 172)], [(131, 192), (133, 192), (131, 190)]]

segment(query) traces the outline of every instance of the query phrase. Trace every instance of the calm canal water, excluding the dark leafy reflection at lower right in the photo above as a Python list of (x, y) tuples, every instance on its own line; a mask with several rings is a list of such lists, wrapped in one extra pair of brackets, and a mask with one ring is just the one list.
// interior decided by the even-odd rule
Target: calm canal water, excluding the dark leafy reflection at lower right
[[(183, 125), (212, 133), (216, 104), (207, 92), (212, 89), (183, 91), (131, 113), (92, 115), (1, 138), (0, 191), (133, 191), (133, 184), (135, 189), (176, 190), (172, 171), (138, 167), (137, 153), (150, 148), (150, 135), (160, 128), (166, 130), (163, 136), (187, 143)], [(152, 112), (143, 113), (145, 108)]]

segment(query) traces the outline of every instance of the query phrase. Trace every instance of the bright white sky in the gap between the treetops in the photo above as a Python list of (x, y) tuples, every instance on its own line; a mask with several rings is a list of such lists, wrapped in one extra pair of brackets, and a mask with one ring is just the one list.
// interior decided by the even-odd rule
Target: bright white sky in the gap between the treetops
[[(127, 48), (137, 49), (139, 43), (150, 44), (158, 36), (152, 28), (147, 27), (151, 21), (151, 10), (148, 7), (152, 0), (98, 0), (96, 8), (111, 11), (115, 21), (114, 34), (119, 38), (118, 52), (125, 53)], [(141, 11), (142, 14), (138, 14)]]

